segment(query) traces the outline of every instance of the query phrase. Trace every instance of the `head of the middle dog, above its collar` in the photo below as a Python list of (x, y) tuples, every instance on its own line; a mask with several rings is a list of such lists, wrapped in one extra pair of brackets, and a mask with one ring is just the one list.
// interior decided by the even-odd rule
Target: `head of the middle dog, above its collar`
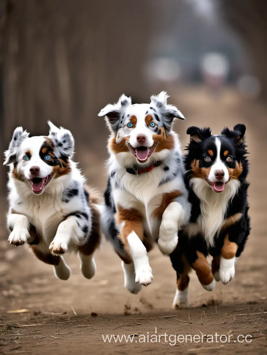
[(150, 104), (132, 105), (131, 98), (122, 95), (116, 104), (104, 107), (99, 116), (106, 117), (111, 131), (111, 151), (128, 153), (141, 164), (148, 162), (153, 153), (152, 160), (164, 157), (163, 151), (174, 147), (174, 118), (184, 119), (175, 106), (167, 104), (167, 98), (162, 91), (151, 96)]

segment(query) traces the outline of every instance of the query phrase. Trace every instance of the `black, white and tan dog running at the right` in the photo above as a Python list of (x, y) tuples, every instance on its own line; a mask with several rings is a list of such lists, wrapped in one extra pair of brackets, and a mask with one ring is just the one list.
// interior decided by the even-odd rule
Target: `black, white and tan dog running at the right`
[[(224, 128), (220, 135), (211, 135), (210, 128), (187, 130), (184, 179), (191, 217), (170, 256), (177, 272), (174, 308), (187, 306), (191, 268), (208, 291), (215, 288), (215, 280), (227, 284), (234, 277), (250, 232), (245, 130), (243, 124)], [(207, 255), (213, 257), (211, 268)]]

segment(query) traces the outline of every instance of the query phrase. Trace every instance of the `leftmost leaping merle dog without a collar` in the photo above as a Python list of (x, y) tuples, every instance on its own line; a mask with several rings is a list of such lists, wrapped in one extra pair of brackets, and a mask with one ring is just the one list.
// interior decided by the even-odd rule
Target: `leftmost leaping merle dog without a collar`
[(8, 181), (8, 241), (29, 244), (35, 256), (54, 266), (55, 275), (71, 274), (62, 258), (78, 252), (84, 277), (94, 276), (93, 258), (100, 242), (100, 217), (85, 178), (72, 161), (74, 140), (70, 131), (51, 122), (49, 136), (29, 137), (17, 127), (4, 165), (10, 165)]

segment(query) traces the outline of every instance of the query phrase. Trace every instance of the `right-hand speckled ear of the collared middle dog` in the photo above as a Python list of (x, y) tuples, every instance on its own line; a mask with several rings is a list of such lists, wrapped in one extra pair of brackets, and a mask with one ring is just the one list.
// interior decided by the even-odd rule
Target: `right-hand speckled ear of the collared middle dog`
[(162, 120), (164, 125), (166, 126), (167, 130), (172, 129), (173, 120), (174, 118), (179, 118), (180, 120), (184, 120), (183, 114), (177, 109), (177, 107), (173, 105), (167, 104), (167, 98), (169, 96), (165, 91), (162, 91), (158, 95), (152, 95), (151, 105), (161, 114)]

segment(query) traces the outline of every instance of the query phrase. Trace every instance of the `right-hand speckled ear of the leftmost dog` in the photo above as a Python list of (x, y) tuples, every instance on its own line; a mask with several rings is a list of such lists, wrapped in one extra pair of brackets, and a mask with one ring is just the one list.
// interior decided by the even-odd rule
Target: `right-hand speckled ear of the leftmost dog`
[(63, 127), (56, 127), (51, 121), (48, 121), (48, 125), (50, 128), (48, 137), (54, 143), (56, 157), (71, 157), (74, 151), (74, 138), (71, 132)]

